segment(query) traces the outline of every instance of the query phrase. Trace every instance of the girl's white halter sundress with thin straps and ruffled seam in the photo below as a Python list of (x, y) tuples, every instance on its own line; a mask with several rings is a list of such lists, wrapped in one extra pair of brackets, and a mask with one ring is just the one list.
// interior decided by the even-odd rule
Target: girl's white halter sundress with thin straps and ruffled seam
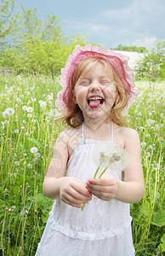
[[(84, 129), (84, 128), (83, 128)], [(84, 138), (67, 164), (67, 177), (77, 177), (87, 183), (94, 177), (97, 165), (92, 159), (94, 146), (100, 142)], [(122, 172), (108, 168), (105, 174), (122, 179)], [(102, 201), (93, 196), (83, 211), (57, 199), (54, 201), (36, 256), (133, 256), (129, 204), (116, 199)]]

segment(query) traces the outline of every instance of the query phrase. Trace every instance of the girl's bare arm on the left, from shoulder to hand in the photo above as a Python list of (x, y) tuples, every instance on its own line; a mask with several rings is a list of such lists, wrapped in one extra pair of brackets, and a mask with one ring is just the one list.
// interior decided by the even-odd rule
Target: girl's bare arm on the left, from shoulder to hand
[(76, 177), (65, 177), (68, 161), (68, 137), (62, 131), (54, 146), (54, 155), (48, 166), (43, 181), (43, 193), (51, 199), (60, 197), (62, 201), (73, 206), (82, 207), (91, 199), (91, 195), (81, 180)]

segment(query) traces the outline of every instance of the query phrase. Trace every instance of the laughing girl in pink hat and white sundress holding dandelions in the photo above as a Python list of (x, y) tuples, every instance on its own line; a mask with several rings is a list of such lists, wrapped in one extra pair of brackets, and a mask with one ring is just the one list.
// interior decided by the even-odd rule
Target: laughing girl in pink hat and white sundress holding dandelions
[(60, 84), (56, 106), (71, 129), (60, 133), (44, 178), (55, 201), (36, 255), (132, 256), (129, 203), (145, 185), (139, 136), (123, 126), (139, 93), (128, 57), (77, 46)]

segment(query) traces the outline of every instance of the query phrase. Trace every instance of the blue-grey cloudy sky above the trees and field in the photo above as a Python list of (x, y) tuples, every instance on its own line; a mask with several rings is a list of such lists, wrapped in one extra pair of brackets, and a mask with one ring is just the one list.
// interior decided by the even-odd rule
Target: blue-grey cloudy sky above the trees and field
[(105, 49), (145, 46), (165, 40), (165, 0), (17, 0), (14, 12), (37, 8), (37, 17), (56, 15), (65, 36), (79, 32)]

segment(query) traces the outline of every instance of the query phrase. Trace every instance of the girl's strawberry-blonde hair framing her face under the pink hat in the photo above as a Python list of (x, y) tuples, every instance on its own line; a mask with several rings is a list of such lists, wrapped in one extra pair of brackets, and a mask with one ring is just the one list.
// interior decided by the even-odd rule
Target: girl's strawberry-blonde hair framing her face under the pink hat
[(94, 55), (87, 57), (77, 65), (75, 72), (71, 77), (70, 87), (67, 95), (67, 113), (65, 116), (58, 119), (65, 121), (67, 125), (73, 128), (82, 125), (84, 120), (82, 110), (72, 100), (75, 84), (77, 84), (77, 80), (81, 76), (88, 74), (98, 62), (105, 67), (105, 73), (107, 73), (108, 77), (113, 79), (117, 86), (116, 99), (111, 108), (111, 113), (109, 113), (108, 119), (111, 119), (114, 123), (120, 126), (127, 125), (126, 119), (124, 119), (122, 116), (122, 110), (128, 105), (128, 91), (124, 89), (122, 81), (119, 79), (116, 70), (111, 66), (111, 63), (100, 56)]

